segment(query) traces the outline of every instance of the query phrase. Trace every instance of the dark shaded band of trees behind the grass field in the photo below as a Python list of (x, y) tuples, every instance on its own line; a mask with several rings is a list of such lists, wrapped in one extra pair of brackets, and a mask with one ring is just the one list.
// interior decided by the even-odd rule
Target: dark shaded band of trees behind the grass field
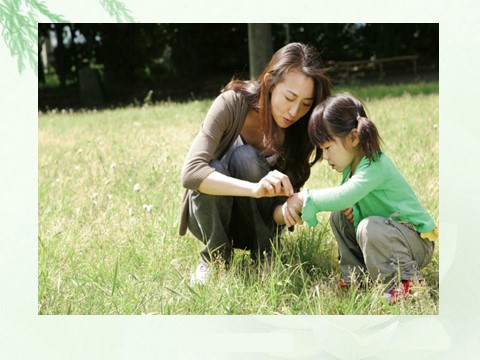
[(419, 69), (438, 69), (438, 24), (39, 24), (39, 105), (81, 105), (82, 68), (98, 73), (110, 103), (148, 90), (210, 96), (232, 75), (255, 77), (290, 41), (314, 45), (325, 63), (418, 54)]

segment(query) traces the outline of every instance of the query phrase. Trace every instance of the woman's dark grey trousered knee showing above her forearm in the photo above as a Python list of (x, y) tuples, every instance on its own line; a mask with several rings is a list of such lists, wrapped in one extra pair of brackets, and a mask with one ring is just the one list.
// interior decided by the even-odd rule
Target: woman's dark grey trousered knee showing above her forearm
[(257, 149), (242, 145), (232, 153), (228, 170), (237, 179), (259, 181), (270, 171), (270, 167)]

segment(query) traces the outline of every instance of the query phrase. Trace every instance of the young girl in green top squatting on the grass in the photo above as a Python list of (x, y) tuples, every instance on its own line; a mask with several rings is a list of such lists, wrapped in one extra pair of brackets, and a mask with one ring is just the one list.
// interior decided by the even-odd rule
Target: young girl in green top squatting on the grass
[[(328, 165), (343, 174), (341, 185), (297, 193), (288, 200), (290, 208), (301, 208), (310, 226), (317, 224), (317, 212), (332, 211), (341, 287), (368, 271), (387, 284), (386, 299), (408, 294), (432, 258), (436, 226), (382, 152), (362, 103), (348, 93), (329, 97), (313, 111), (309, 136)], [(352, 205), (353, 223), (342, 211)]]

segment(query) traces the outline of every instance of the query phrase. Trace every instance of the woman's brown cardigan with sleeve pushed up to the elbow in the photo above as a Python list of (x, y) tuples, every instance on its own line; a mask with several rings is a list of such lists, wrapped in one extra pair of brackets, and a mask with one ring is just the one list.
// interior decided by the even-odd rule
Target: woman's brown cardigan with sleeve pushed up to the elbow
[(223, 157), (237, 139), (247, 118), (248, 105), (233, 90), (220, 94), (207, 112), (182, 167), (182, 185), (186, 188), (180, 208), (179, 234), (185, 235), (188, 223), (188, 193), (198, 190), (215, 169), (208, 164)]

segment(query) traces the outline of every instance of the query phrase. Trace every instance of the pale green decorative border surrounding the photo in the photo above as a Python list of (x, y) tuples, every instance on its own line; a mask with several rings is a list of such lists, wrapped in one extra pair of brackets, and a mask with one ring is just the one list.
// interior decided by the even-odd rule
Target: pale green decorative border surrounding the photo
[[(72, 22), (114, 21), (99, 0), (44, 3)], [(278, 0), (123, 3), (142, 22), (440, 23), (440, 315), (37, 315), (37, 78), (29, 68), (18, 73), (0, 39), (0, 357), (477, 359), (478, 2), (350, 0), (313, 8), (313, 1)]]

